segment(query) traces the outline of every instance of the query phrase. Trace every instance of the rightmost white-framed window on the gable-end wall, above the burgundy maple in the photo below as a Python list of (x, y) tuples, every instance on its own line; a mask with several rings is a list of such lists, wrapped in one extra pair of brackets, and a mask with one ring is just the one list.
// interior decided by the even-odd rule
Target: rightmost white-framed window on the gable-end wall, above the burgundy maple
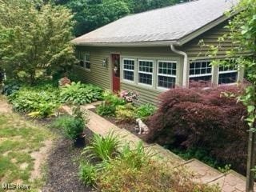
[(238, 70), (230, 66), (218, 67), (218, 84), (229, 84), (238, 81)]

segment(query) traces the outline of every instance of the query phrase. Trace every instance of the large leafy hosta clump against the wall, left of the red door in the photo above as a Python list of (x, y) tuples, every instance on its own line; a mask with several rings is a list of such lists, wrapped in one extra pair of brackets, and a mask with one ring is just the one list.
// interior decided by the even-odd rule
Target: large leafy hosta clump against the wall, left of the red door
[(63, 86), (60, 93), (62, 103), (85, 104), (102, 99), (102, 89), (98, 86), (72, 82)]

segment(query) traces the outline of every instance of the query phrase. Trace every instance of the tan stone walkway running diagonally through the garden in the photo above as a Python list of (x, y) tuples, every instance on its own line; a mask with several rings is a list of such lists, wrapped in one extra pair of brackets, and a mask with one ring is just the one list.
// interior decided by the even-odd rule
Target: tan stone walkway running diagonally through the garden
[[(95, 134), (106, 135), (110, 130), (118, 134), (126, 142), (134, 143), (142, 142), (140, 138), (131, 134), (128, 130), (120, 129), (113, 123), (107, 121), (105, 118), (100, 117), (98, 114), (93, 113), (89, 109), (94, 108), (93, 105), (82, 106), (83, 109), (88, 110), (90, 121), (88, 122), (88, 128)], [(68, 106), (63, 106), (63, 109), (71, 113)], [(191, 170), (195, 174), (195, 180), (206, 184), (217, 184), (221, 187), (223, 192), (245, 192), (246, 191), (246, 178), (241, 174), (230, 170), (226, 174), (222, 174), (218, 170), (207, 166), (205, 163), (198, 161), (197, 159), (191, 159), (185, 161), (179, 158), (176, 154), (170, 150), (164, 149), (158, 144), (149, 145), (143, 142), (147, 151), (156, 154), (158, 158), (170, 164), (170, 166), (186, 166), (188, 170)], [(254, 190), (256, 191), (256, 190)]]

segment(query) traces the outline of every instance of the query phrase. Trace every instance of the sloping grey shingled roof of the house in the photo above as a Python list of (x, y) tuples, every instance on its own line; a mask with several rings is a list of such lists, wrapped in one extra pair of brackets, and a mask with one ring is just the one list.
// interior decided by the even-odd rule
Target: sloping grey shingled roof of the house
[(212, 22), (218, 24), (218, 20), (226, 20), (224, 13), (231, 10), (237, 2), (238, 0), (198, 0), (132, 14), (75, 38), (72, 42), (94, 46), (178, 42)]

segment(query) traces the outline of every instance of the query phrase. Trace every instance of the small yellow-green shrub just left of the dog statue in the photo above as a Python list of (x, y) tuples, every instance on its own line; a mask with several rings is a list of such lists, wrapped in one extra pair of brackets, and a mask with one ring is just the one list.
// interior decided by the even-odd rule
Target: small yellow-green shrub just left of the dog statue
[(132, 122), (136, 118), (136, 107), (132, 103), (116, 107), (116, 118), (119, 122)]

